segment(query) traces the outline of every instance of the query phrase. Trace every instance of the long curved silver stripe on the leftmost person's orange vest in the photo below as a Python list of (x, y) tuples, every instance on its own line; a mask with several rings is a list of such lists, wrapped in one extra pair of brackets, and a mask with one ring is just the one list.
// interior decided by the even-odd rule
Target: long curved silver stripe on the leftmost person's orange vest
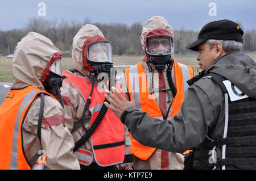
[(10, 169), (18, 169), (17, 155), (18, 155), (18, 137), (19, 137), (20, 116), (22, 115), (22, 112), (24, 111), (24, 108), (26, 108), (27, 104), (30, 103), (31, 100), (34, 98), (36, 91), (38, 91), (38, 90), (31, 90), (24, 97), (24, 99), (22, 100), (22, 103), (20, 104), (18, 113), (15, 118), (14, 131), (13, 131), (13, 142), (12, 142), (12, 146), (11, 146)]

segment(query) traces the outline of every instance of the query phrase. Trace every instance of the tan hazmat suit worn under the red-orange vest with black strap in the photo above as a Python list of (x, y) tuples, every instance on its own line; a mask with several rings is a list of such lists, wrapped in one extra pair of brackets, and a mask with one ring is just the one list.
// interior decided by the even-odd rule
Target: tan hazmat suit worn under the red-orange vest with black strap
[[(76, 36), (73, 38), (73, 49), (72, 49), (72, 59), (75, 65), (75, 68), (79, 70), (85, 77), (90, 75), (89, 71), (84, 68), (84, 62), (82, 61), (82, 47), (84, 46), (84, 42), (88, 37), (94, 36), (103, 36), (103, 33), (98, 29), (96, 26), (92, 24), (86, 24), (85, 26), (81, 27), (79, 32), (77, 32)], [(80, 73), (75, 74), (79, 76), (83, 76)], [(95, 83), (99, 83), (98, 79), (95, 79)], [(108, 86), (107, 86), (108, 87)], [(67, 120), (67, 125), (69, 131), (72, 131), (74, 123), (81, 120), (82, 112), (84, 111), (85, 101), (82, 98), (81, 94), (77, 91), (75, 87), (72, 86), (72, 83), (69, 81), (68, 78), (65, 78), (63, 81), (63, 86), (61, 87), (61, 95), (64, 99), (64, 106), (65, 106), (65, 119)], [(102, 102), (103, 103), (103, 102)], [(90, 120), (91, 113), (89, 110), (85, 112), (85, 120)], [(85, 128), (89, 129), (90, 121), (87, 121), (85, 124)], [(129, 132), (124, 125), (125, 129), (125, 154), (130, 154), (130, 135)], [(85, 131), (82, 127), (77, 129), (77, 131), (72, 132), (73, 140), (76, 142), (78, 141), (83, 135)], [(93, 154), (91, 140), (85, 142), (84, 145), (81, 146), (81, 149), (85, 149), (90, 151)], [(106, 155), (108, 157), (108, 155)], [(93, 158), (92, 163), (96, 163), (95, 159)], [(116, 165), (115, 169), (131, 169), (133, 163), (119, 163)], [(90, 165), (89, 165), (90, 166)]]

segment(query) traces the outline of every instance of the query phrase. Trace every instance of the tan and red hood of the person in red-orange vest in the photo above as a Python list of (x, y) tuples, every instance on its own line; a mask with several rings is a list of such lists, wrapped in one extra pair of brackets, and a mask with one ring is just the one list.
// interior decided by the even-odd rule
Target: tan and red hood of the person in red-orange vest
[(84, 75), (90, 74), (92, 67), (86, 60), (86, 51), (89, 44), (96, 41), (106, 41), (103, 33), (93, 24), (82, 26), (73, 38), (72, 59), (76, 69)]

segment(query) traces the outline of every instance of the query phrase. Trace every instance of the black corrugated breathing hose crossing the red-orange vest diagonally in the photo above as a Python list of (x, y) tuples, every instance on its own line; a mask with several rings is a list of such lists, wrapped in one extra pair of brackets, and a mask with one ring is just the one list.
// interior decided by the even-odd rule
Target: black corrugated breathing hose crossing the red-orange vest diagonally
[[(93, 78), (93, 82), (94, 82), (94, 78)], [(111, 87), (113, 87), (113, 82), (109, 80), (109, 91), (111, 91)], [(93, 87), (92, 87), (92, 91), (93, 91)], [(91, 93), (92, 93), (91, 91)], [(109, 103), (108, 99), (105, 99), (104, 102)], [(89, 105), (88, 105), (89, 106)], [(84, 143), (90, 138), (90, 136), (92, 136), (92, 134), (94, 133), (94, 131), (96, 130), (96, 128), (98, 127), (98, 125), (101, 123), (101, 120), (104, 118), (104, 116), (106, 115), (106, 112), (108, 111), (108, 108), (105, 106), (105, 104), (102, 105), (100, 113), (98, 113), (98, 116), (96, 117), (96, 120), (93, 122), (93, 124), (91, 125), (91, 127), (89, 129), (85, 129), (86, 133), (75, 143), (75, 147), (73, 149), (73, 152), (75, 152), (77, 149), (79, 149), (82, 145), (84, 145)], [(83, 113), (84, 117), (85, 112)], [(83, 127), (84, 124), (82, 123)]]

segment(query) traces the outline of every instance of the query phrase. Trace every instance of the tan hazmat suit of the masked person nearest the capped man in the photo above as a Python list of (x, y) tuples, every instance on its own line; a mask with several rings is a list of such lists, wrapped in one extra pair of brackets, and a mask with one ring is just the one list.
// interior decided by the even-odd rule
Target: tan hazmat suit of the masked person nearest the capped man
[[(143, 26), (143, 30), (142, 30), (142, 34), (141, 34), (141, 45), (142, 45), (143, 50), (145, 50), (146, 41), (144, 40), (144, 38), (146, 37), (146, 35), (149, 32), (151, 32), (152, 30), (155, 30), (158, 28), (164, 29), (173, 35), (172, 27), (170, 26), (170, 24), (168, 24), (166, 19), (164, 19), (162, 16), (154, 16), (151, 19), (148, 19), (146, 24)], [(146, 74), (146, 77), (149, 73), (148, 66), (146, 64), (146, 60), (148, 60), (149, 58), (150, 57), (146, 54), (146, 56), (144, 56), (141, 61), (144, 72)], [(154, 65), (151, 64), (151, 66), (154, 66)], [(172, 96), (170, 86), (168, 85), (168, 82), (167, 82), (166, 71), (167, 71), (167, 66), (163, 70), (162, 76), (160, 76), (160, 73), (156, 69), (154, 69), (154, 73), (159, 73), (159, 80), (158, 80), (159, 83), (164, 82), (166, 85), (167, 91), (164, 91), (164, 92), (166, 92), (165, 95), (166, 95), (167, 103), (166, 103), (166, 106), (164, 106), (164, 107), (166, 108), (166, 110), (168, 110), (168, 107), (174, 100), (174, 97)], [(154, 75), (154, 73), (153, 73), (153, 75)], [(174, 66), (172, 66), (171, 73), (172, 73), (172, 81), (174, 82), (174, 85), (175, 85)], [(152, 80), (153, 80), (152, 88), (153, 89), (158, 88), (158, 87), (154, 87), (155, 86), (154, 78)], [(148, 87), (150, 87), (150, 81), (148, 81), (147, 83), (148, 83)], [(117, 84), (123, 88), (123, 85), (125, 84), (124, 75), (123, 76), (121, 75), (119, 77)], [(156, 94), (158, 94), (158, 92), (156, 92), (156, 91), (152, 92), (152, 96), (155, 98), (156, 103), (158, 103), (158, 105), (159, 105), (159, 97), (160, 96), (158, 96)], [(126, 98), (128, 100), (130, 99), (129, 93), (126, 93)], [(134, 158), (134, 169), (147, 169), (147, 170), (148, 169), (152, 169), (152, 170), (155, 170), (155, 169), (170, 169), (170, 170), (183, 169), (183, 162), (184, 162), (183, 154), (172, 153), (172, 152), (156, 149), (155, 153), (152, 154), (152, 156), (147, 161), (142, 161), (141, 159), (135, 157)]]

